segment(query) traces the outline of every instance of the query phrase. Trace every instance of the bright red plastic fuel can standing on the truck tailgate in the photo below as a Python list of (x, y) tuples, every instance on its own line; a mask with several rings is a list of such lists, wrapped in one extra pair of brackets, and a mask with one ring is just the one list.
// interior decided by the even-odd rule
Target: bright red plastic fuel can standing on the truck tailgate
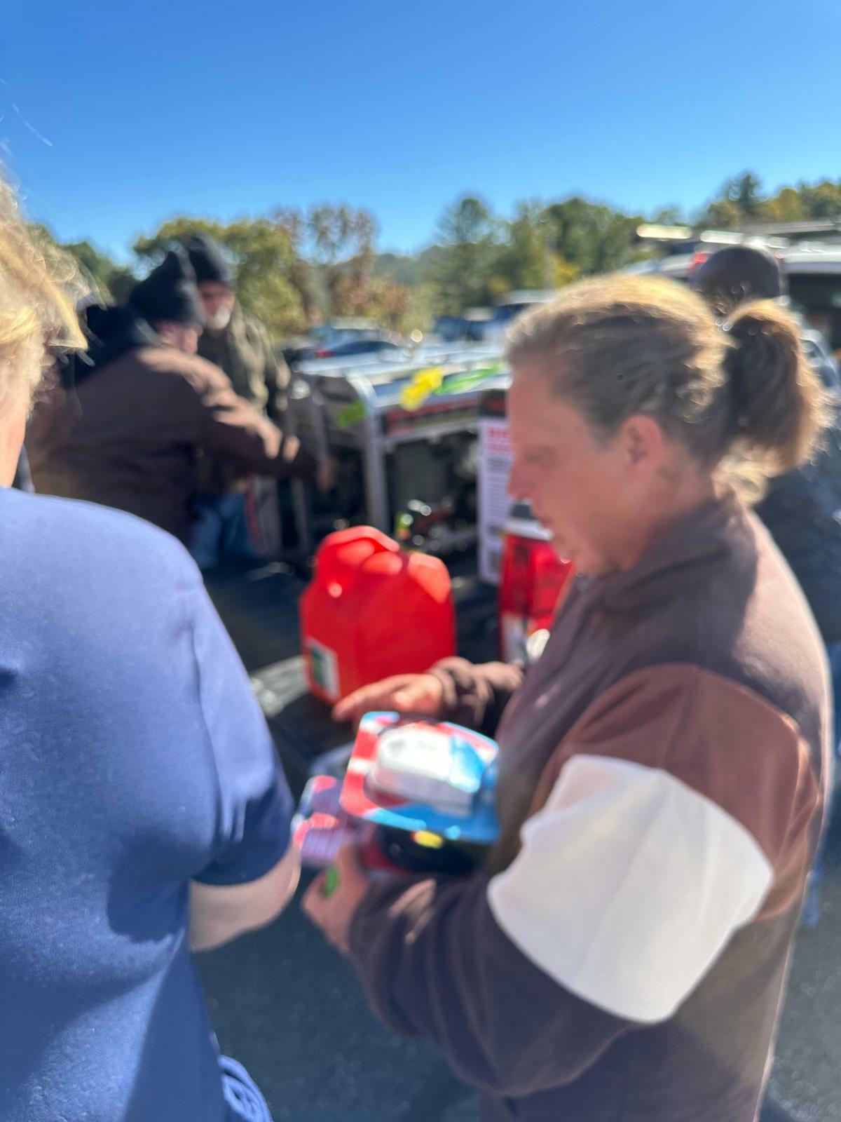
[(371, 526), (341, 530), (315, 554), (301, 632), (309, 690), (325, 701), (389, 674), (422, 673), (455, 653), (450, 573)]

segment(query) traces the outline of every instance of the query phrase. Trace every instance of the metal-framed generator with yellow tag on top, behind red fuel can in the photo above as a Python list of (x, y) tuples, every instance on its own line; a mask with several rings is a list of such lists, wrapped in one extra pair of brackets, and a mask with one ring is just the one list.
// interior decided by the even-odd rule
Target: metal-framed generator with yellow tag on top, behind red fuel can
[(367, 524), (415, 549), (475, 544), (479, 413), (505, 384), (496, 346), (426, 347), (404, 361), (320, 359), (293, 373), (287, 423), (338, 465), (334, 493), (295, 484), (295, 530), (311, 551), (326, 533)]

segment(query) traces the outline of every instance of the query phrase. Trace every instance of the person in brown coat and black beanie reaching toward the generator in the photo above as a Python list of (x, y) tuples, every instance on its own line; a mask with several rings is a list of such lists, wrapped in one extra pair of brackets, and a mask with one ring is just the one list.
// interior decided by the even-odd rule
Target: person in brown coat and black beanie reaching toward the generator
[(124, 307), (87, 310), (92, 342), (64, 367), (27, 432), (35, 488), (128, 511), (188, 542), (201, 458), (243, 473), (315, 478), (298, 440), (195, 355), (195, 277), (170, 252)]

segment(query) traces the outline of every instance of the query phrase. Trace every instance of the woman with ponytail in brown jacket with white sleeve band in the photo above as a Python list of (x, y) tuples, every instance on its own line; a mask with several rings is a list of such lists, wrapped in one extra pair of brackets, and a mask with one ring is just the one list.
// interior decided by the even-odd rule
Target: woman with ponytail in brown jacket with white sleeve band
[(524, 319), (511, 362), (511, 491), (586, 576), (525, 677), (451, 660), (336, 714), (496, 732), (499, 844), (470, 877), (376, 885), (348, 850), (306, 909), (488, 1122), (752, 1122), (829, 710), (802, 595), (720, 465), (800, 462), (820, 390), (780, 311), (721, 331), (636, 278)]

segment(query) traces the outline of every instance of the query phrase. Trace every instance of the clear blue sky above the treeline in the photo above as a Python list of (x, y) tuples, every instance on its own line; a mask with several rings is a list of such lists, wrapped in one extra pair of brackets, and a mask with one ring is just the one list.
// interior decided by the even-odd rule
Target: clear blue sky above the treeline
[(405, 250), (464, 191), (692, 209), (743, 168), (841, 176), (840, 34), (837, 0), (28, 0), (0, 156), (120, 256), (179, 212), (344, 201)]

